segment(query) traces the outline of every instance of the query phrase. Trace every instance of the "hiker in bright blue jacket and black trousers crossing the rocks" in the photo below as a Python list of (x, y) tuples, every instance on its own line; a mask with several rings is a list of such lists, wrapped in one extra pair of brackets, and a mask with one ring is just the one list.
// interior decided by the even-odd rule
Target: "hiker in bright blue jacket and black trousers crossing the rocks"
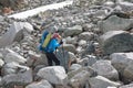
[[(48, 34), (49, 32), (44, 32), (42, 35), (42, 38), (45, 38), (45, 34)], [(60, 43), (59, 43), (60, 40)], [(61, 36), (59, 35), (59, 33), (53, 33), (51, 35), (51, 40), (49, 42), (49, 44), (43, 48), (42, 47), (42, 40), (41, 40), (41, 44), (39, 46), (39, 50), (45, 54), (47, 58), (48, 58), (48, 64), (49, 66), (52, 66), (52, 61), (55, 63), (55, 65), (60, 65), (60, 61), (57, 58), (57, 56), (54, 55), (54, 51), (61, 45), (63, 44), (63, 42), (61, 41)]]

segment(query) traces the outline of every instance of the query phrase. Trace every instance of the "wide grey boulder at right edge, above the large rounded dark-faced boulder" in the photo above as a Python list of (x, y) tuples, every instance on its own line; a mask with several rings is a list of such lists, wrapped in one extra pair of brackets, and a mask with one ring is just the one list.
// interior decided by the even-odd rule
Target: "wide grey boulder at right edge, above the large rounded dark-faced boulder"
[(112, 15), (104, 21), (99, 22), (99, 28), (103, 31), (103, 33), (109, 31), (117, 31), (117, 30), (127, 30), (132, 26), (133, 19), (123, 19), (116, 15)]

